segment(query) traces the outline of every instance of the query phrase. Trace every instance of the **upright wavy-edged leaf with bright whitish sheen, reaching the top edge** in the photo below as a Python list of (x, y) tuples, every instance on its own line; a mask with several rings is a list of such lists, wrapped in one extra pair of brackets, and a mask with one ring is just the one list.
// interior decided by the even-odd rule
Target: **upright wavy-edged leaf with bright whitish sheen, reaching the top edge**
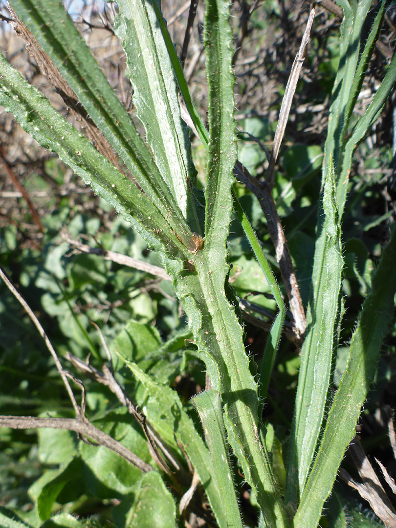
[[(190, 182), (190, 141), (180, 117), (177, 84), (168, 55), (156, 0), (120, 0), (114, 30), (127, 56), (137, 115), (146, 129), (156, 164), (184, 218), (202, 234)], [(156, 8), (155, 8), (156, 7)], [(195, 218), (194, 218), (195, 217)]]

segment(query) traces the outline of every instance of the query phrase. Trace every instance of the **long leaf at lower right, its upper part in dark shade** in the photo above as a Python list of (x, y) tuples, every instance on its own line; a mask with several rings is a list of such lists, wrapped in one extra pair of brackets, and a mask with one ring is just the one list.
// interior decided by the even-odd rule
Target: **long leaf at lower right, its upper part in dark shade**
[(296, 528), (316, 526), (373, 382), (382, 342), (393, 318), (396, 294), (396, 230), (383, 250), (355, 331), (350, 354), (320, 442), (315, 464), (295, 516)]

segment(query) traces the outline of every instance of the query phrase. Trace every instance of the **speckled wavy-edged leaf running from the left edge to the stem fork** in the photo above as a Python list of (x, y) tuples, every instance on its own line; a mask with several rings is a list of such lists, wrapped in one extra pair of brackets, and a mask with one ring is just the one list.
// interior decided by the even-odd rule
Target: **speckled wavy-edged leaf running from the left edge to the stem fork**
[[(38, 143), (56, 152), (97, 194), (131, 222), (153, 249), (163, 252), (165, 246), (169, 254), (183, 255), (181, 242), (156, 206), (65, 121), (3, 55), (0, 55), (0, 103)], [(162, 240), (164, 246), (158, 244), (157, 239)]]

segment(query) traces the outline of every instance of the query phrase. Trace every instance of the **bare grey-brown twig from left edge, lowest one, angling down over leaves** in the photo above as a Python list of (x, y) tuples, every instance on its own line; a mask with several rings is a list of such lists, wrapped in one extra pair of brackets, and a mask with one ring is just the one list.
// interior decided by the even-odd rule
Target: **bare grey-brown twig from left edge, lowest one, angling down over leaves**
[(106, 446), (125, 458), (140, 469), (143, 473), (152, 471), (153, 468), (144, 460), (135, 455), (128, 448), (120, 444), (111, 436), (96, 428), (86, 419), (73, 418), (35, 418), (32, 416), (0, 416), (0, 427), (10, 427), (11, 429), (40, 429), (48, 427), (50, 429), (68, 429), (76, 431), (79, 435), (92, 438), (99, 445)]

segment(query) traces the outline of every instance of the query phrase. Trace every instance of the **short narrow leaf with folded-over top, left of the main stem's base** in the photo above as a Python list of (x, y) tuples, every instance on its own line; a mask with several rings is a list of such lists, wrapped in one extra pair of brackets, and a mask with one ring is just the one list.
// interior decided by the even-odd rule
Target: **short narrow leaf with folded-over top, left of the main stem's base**
[[(201, 392), (193, 398), (194, 406), (200, 415), (212, 458), (213, 473), (219, 493), (223, 498), (223, 509), (227, 524), (242, 528), (237, 497), (231, 473), (231, 464), (225, 436), (220, 393), (214, 390)], [(220, 525), (222, 526), (222, 525)]]

